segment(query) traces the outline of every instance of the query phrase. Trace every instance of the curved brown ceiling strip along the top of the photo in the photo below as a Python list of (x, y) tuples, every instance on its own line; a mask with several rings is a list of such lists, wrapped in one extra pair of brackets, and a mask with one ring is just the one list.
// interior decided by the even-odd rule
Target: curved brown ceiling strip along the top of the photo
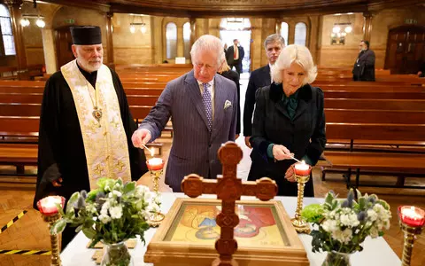
[(217, 16), (279, 18), (300, 14), (373, 12), (384, 8), (423, 4), (423, 0), (44, 0), (43, 2), (81, 6), (104, 12), (192, 18)]

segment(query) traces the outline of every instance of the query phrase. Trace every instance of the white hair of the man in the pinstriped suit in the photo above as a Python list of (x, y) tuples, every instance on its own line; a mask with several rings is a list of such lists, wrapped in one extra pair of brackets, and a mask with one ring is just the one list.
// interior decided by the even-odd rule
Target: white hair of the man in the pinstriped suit
[(195, 58), (199, 55), (200, 51), (209, 51), (217, 56), (217, 67), (221, 64), (221, 57), (224, 53), (223, 46), (219, 38), (213, 35), (202, 35), (192, 45), (190, 50), (190, 57), (192, 64), (195, 64)]

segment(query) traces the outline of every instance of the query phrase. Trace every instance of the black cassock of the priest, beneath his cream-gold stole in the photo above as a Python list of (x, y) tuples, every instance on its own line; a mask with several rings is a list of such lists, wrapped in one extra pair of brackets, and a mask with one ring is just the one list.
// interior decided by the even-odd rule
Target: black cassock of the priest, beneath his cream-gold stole
[[(89, 74), (81, 69), (94, 88), (97, 72)], [(112, 71), (112, 81), (120, 104), (120, 114), (128, 140), (131, 179), (137, 180), (147, 172), (143, 150), (135, 148), (131, 136), (136, 129), (130, 113), (126, 94), (118, 74)], [(92, 107), (92, 106), (89, 106)], [(98, 151), (104, 153), (104, 151)], [(61, 187), (51, 181), (62, 177)], [(89, 172), (82, 141), (80, 121), (73, 102), (73, 94), (59, 71), (46, 82), (42, 98), (40, 134), (38, 141), (38, 174), (34, 207), (38, 200), (49, 195), (60, 195), (68, 200), (73, 192), (89, 192)]]

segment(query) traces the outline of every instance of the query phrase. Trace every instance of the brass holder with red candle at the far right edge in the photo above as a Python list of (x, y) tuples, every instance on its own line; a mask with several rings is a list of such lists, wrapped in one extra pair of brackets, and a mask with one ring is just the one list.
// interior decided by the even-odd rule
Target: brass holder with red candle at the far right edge
[(405, 235), (401, 265), (408, 266), (412, 259), (413, 242), (417, 239), (418, 235), (421, 235), (425, 223), (425, 211), (419, 207), (413, 207), (413, 212), (416, 211), (419, 215), (415, 217), (414, 215), (406, 214), (403, 211), (404, 208), (407, 208), (409, 211), (412, 209), (410, 207), (398, 207), (398, 223)]

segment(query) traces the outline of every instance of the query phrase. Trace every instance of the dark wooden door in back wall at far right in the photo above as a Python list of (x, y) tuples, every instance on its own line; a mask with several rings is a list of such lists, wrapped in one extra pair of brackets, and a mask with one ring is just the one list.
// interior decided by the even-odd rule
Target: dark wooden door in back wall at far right
[(391, 74), (416, 74), (425, 61), (425, 27), (408, 25), (390, 29), (385, 69)]

